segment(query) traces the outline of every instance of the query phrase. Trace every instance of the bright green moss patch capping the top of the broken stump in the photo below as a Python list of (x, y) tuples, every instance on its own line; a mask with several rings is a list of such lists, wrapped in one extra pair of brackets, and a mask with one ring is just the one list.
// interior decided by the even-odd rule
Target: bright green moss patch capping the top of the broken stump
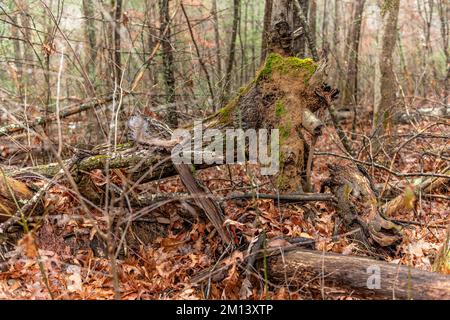
[(262, 79), (270, 77), (274, 71), (293, 76), (312, 76), (316, 69), (317, 64), (310, 58), (299, 59), (296, 57), (282, 57), (272, 53), (267, 57), (266, 63), (260, 70), (255, 81), (258, 83)]

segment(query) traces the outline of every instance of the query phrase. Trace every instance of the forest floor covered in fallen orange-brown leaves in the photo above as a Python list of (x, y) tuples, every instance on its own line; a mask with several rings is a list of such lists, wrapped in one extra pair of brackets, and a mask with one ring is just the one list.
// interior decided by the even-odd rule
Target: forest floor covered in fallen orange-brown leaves
[[(411, 139), (416, 132), (426, 136), (414, 138), (399, 151), (392, 164), (394, 171), (439, 172), (448, 166), (450, 155), (448, 126), (422, 121), (413, 125), (397, 125), (391, 133), (396, 145)], [(421, 131), (423, 130), (423, 131)], [(357, 139), (359, 141), (359, 139)], [(360, 142), (355, 142), (356, 144)], [(331, 126), (319, 139), (316, 152), (343, 154)], [(446, 154), (445, 154), (446, 153)], [(441, 154), (436, 158), (431, 154)], [(445, 160), (447, 159), (447, 160)], [(386, 159), (385, 159), (386, 160)], [(327, 165), (340, 159), (333, 155), (318, 155), (314, 159), (313, 183), (316, 192), (328, 177)], [(386, 162), (389, 167), (391, 163)], [(368, 168), (375, 183), (383, 188), (388, 173)], [(95, 183), (102, 185), (104, 177), (92, 172)], [(214, 195), (225, 197), (236, 192), (274, 193), (269, 179), (262, 177), (255, 166), (220, 166), (198, 172), (197, 175)], [(230, 178), (231, 177), (231, 178)], [(117, 178), (113, 172), (112, 179)], [(401, 192), (407, 199), (408, 186), (414, 179), (403, 179)], [(120, 184), (120, 179), (116, 179)], [(389, 186), (400, 181), (389, 177)], [(184, 192), (178, 178), (142, 185), (138, 190)], [(408, 201), (408, 200), (405, 200)], [(94, 255), (89, 247), (74, 250), (74, 238), (95, 238), (92, 217), (105, 225), (100, 212), (91, 217), (81, 213), (79, 203), (64, 186), (51, 189), (46, 198), (47, 218), (32, 233), (27, 234), (0, 265), (0, 299), (112, 299), (114, 286), (110, 260)], [(282, 246), (286, 237), (314, 240), (315, 249), (345, 255), (365, 255), (346, 237), (333, 239), (335, 210), (325, 203), (278, 203), (276, 200), (227, 200), (223, 203), (227, 223), (250, 242), (261, 230), (267, 235), (267, 246)], [(298, 291), (287, 286), (270, 284), (259, 276), (259, 285), (248, 290), (242, 272), (243, 249), (220, 256), (220, 240), (205, 219), (187, 219), (182, 211), (198, 210), (180, 202), (172, 202), (152, 213), (156, 217), (149, 230), (150, 239), (130, 245), (126, 255), (118, 259), (118, 276), (122, 299), (354, 299), (350, 292), (329, 291), (320, 296), (305, 285)], [(52, 219), (52, 216), (57, 219)], [(389, 262), (433, 270), (435, 257), (446, 241), (450, 208), (448, 194), (418, 199), (411, 210), (395, 213), (394, 219), (413, 222), (405, 227), (403, 242)], [(56, 221), (56, 222), (55, 222)], [(133, 229), (132, 229), (133, 230)], [(342, 232), (339, 232), (342, 233)], [(137, 237), (136, 237), (137, 239)], [(142, 239), (141, 239), (142, 240)], [(201, 271), (216, 264), (225, 266), (210, 282), (194, 283)], [(261, 272), (263, 275), (263, 272)], [(264, 288), (267, 288), (267, 291)]]

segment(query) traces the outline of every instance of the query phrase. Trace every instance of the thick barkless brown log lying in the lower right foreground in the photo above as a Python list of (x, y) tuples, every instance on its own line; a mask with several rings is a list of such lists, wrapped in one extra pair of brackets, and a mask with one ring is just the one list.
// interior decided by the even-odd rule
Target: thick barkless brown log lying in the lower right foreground
[(271, 257), (269, 277), (272, 282), (293, 288), (304, 288), (308, 283), (311, 286), (314, 281), (318, 289), (322, 285), (348, 288), (358, 297), (450, 299), (450, 276), (363, 257), (304, 249)]

